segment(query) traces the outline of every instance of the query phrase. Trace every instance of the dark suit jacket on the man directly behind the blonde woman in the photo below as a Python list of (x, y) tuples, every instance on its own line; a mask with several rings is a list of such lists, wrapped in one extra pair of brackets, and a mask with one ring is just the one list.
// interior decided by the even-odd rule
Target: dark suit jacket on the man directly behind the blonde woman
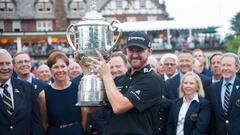
[[(208, 78), (202, 74), (197, 74), (203, 84), (203, 89), (206, 90), (208, 86), (212, 84), (211, 78)], [(179, 85), (180, 85), (180, 73), (175, 75), (173, 78), (166, 81), (166, 98), (177, 99), (179, 98)]]

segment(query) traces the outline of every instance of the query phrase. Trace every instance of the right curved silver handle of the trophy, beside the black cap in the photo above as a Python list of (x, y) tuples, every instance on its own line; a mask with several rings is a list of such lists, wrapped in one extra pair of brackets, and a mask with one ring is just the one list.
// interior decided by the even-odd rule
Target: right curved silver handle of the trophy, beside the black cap
[(117, 43), (120, 39), (120, 37), (122, 36), (122, 27), (121, 27), (121, 22), (118, 21), (118, 20), (113, 20), (111, 22), (111, 24), (109, 25), (109, 29), (113, 32), (117, 32), (118, 31), (118, 36), (117, 36), (117, 39), (116, 41), (114, 42), (113, 44), (113, 47), (111, 47), (108, 52), (112, 52), (116, 47), (117, 47)]

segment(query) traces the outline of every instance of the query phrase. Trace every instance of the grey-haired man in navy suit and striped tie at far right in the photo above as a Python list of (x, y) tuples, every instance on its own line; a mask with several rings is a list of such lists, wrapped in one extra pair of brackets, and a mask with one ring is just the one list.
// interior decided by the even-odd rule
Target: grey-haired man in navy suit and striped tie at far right
[(225, 53), (221, 59), (223, 79), (207, 90), (213, 110), (212, 129), (217, 135), (240, 134), (240, 79), (236, 77), (239, 66), (237, 55)]

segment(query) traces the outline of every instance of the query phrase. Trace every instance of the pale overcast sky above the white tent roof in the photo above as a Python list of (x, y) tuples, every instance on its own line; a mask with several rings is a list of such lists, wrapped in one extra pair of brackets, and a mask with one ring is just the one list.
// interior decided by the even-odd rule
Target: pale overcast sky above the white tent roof
[(170, 17), (182, 23), (220, 25), (229, 33), (230, 20), (240, 12), (240, 0), (165, 0)]

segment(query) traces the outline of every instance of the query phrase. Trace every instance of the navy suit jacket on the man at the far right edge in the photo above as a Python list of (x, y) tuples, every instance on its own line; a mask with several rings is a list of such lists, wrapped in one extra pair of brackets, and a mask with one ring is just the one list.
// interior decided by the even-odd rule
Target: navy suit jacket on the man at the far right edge
[(236, 77), (230, 97), (229, 114), (224, 115), (221, 101), (221, 87), (223, 80), (213, 83), (208, 89), (208, 99), (213, 110), (213, 124), (217, 135), (240, 134), (240, 79)]

